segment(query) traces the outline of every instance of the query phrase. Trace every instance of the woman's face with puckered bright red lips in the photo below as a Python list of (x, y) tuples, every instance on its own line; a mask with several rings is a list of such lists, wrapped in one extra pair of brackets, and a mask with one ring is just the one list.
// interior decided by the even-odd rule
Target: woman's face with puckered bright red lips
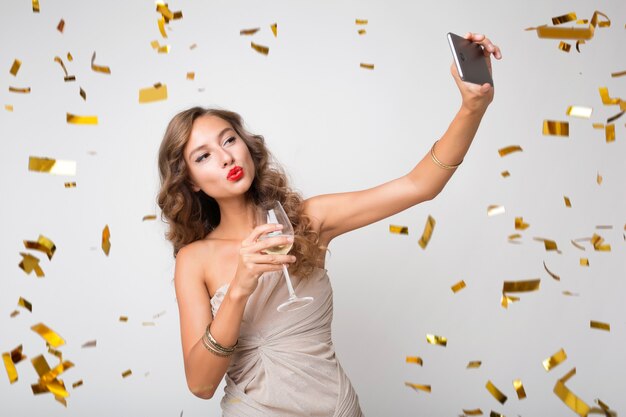
[(240, 196), (254, 179), (254, 162), (245, 142), (227, 121), (198, 117), (183, 149), (193, 191), (216, 200)]

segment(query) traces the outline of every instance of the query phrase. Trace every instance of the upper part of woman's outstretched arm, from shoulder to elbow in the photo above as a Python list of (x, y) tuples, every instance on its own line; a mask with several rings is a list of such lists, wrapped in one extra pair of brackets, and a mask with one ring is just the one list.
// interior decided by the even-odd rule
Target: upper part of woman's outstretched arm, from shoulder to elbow
[(320, 223), (327, 241), (433, 198), (421, 183), (403, 176), (362, 191), (325, 194), (305, 201), (304, 211)]

